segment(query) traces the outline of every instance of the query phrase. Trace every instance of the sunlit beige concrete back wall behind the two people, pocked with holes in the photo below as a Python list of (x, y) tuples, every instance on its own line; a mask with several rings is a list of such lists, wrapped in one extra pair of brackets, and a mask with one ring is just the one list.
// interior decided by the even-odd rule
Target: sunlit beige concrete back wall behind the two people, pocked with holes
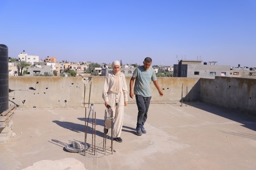
[[(129, 91), (131, 77), (126, 77)], [(105, 76), (95, 76), (84, 83), (82, 77), (47, 77), (47, 76), (9, 76), (9, 105), (16, 104), (17, 109), (36, 108), (79, 108), (90, 103), (103, 103), (102, 89)], [(160, 97), (153, 82), (151, 84), (152, 103), (172, 103), (181, 100), (182, 84), (183, 98), (188, 86), (191, 94), (193, 86), (193, 100), (200, 98), (199, 78), (158, 77), (164, 96)], [(90, 93), (91, 85), (91, 93)], [(84, 93), (85, 92), (85, 93)], [(129, 93), (129, 92), (128, 92)], [(85, 97), (84, 97), (85, 96)], [(188, 97), (189, 98), (189, 97)], [(129, 103), (135, 103), (128, 97)]]

